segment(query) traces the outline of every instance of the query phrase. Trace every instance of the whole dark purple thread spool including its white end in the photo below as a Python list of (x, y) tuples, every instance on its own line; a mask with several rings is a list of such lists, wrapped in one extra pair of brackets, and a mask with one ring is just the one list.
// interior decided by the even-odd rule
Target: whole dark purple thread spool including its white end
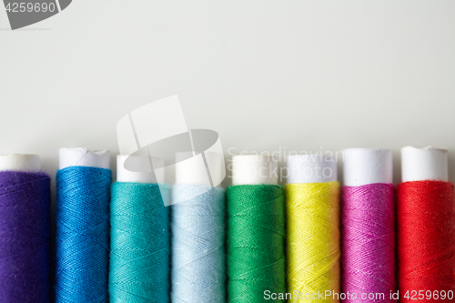
[(36, 155), (0, 155), (0, 301), (49, 302), (50, 177)]

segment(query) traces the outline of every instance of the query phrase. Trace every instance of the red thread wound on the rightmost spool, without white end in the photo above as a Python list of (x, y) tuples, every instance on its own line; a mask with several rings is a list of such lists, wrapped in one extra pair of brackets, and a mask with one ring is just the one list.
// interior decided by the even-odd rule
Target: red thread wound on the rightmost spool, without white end
[[(455, 296), (455, 193), (453, 184), (411, 181), (398, 186), (399, 293), (430, 290)], [(410, 294), (412, 295), (412, 294)], [(420, 302), (453, 302), (431, 295)], [(419, 296), (414, 296), (418, 298)]]

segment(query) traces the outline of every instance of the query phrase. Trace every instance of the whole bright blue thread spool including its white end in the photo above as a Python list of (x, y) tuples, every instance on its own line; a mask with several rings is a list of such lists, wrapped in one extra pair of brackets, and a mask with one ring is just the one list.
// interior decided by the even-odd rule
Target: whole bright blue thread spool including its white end
[(111, 171), (107, 150), (59, 150), (56, 302), (107, 302)]

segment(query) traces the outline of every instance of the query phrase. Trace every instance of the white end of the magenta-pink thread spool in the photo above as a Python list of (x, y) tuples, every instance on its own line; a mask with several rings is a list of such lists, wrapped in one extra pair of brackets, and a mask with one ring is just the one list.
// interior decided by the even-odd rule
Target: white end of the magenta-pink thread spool
[(343, 150), (343, 177), (347, 187), (393, 182), (393, 154), (389, 149), (349, 148)]

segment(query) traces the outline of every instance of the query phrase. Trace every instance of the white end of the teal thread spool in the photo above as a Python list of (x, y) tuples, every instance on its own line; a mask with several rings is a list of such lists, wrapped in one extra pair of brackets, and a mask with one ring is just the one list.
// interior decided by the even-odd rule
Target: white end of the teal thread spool
[[(136, 172), (125, 168), (125, 161), (128, 161), (132, 167), (147, 167), (148, 172)], [(147, 156), (126, 156), (118, 155), (116, 157), (116, 181), (117, 182), (134, 182), (134, 183), (160, 183), (164, 180), (164, 169), (158, 171), (153, 167), (164, 167), (164, 160), (160, 157), (152, 157), (152, 167), (150, 167), (150, 158)], [(152, 172), (152, 170), (154, 172)], [(155, 175), (157, 174), (157, 175)]]

